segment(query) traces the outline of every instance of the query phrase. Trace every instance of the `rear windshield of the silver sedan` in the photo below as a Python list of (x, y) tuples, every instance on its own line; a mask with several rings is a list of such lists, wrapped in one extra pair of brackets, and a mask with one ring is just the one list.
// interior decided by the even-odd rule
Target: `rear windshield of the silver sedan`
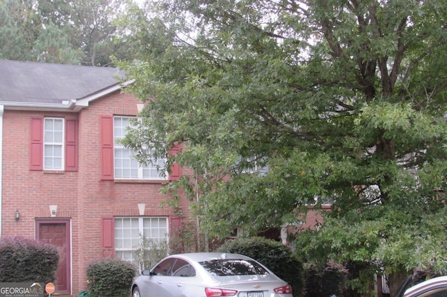
[(242, 259), (216, 259), (199, 262), (209, 273), (217, 276), (267, 275), (268, 271), (255, 261)]

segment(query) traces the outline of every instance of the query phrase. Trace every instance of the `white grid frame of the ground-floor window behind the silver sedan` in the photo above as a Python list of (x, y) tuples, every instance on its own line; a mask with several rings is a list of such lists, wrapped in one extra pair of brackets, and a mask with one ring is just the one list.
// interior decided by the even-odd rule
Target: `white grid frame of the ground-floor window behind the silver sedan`
[[(124, 227), (124, 220), (130, 220), (131, 226)], [(145, 227), (145, 220), (149, 220), (151, 226)], [(152, 227), (152, 220), (158, 220), (158, 226)], [(160, 227), (160, 220), (165, 220), (164, 227)], [(118, 222), (121, 221), (121, 227), (119, 227)], [(132, 225), (132, 222), (137, 221), (136, 225)], [(143, 236), (147, 241), (161, 243), (165, 241), (168, 243), (169, 238), (169, 220), (168, 217), (154, 217), (154, 216), (145, 216), (145, 217), (116, 217), (114, 218), (114, 228), (115, 228), (115, 259), (120, 259), (123, 261), (129, 261), (136, 265), (136, 260), (134, 257), (134, 252), (138, 250), (140, 244), (142, 243)], [(131, 236), (126, 236), (124, 230), (129, 229)], [(147, 236), (147, 232), (145, 230), (149, 229), (149, 236)], [(119, 230), (122, 230), (120, 233)], [(152, 231), (157, 230), (158, 236), (151, 236)], [(137, 232), (138, 231), (138, 232)], [(122, 235), (122, 236), (120, 236)], [(119, 244), (121, 241), (121, 244)], [(129, 241), (131, 244), (129, 245)], [(129, 257), (130, 254), (130, 257)], [(127, 257), (126, 257), (127, 256)]]

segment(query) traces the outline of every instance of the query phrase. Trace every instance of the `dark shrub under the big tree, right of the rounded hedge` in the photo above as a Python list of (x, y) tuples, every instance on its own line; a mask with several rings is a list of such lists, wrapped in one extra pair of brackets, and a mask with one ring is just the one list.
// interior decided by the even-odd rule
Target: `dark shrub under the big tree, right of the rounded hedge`
[(342, 296), (348, 271), (342, 264), (329, 261), (324, 267), (309, 265), (306, 273), (306, 294), (312, 296)]

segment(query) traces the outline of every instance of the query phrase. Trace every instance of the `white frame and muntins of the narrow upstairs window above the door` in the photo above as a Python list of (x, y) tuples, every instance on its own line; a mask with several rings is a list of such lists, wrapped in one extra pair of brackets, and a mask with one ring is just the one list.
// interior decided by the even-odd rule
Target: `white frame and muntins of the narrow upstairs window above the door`
[[(47, 121), (52, 121), (52, 130), (47, 130)], [(61, 130), (54, 129), (54, 122), (61, 121)], [(61, 142), (54, 141), (54, 134), (61, 133)], [(52, 139), (47, 139), (47, 135), (52, 135)], [(49, 141), (51, 140), (51, 141)], [(61, 149), (60, 156), (54, 156), (54, 148)], [(52, 148), (52, 154), (47, 155), (47, 148)], [(61, 167), (54, 166), (54, 160), (61, 158)], [(47, 160), (52, 160), (52, 165), (47, 166)], [(59, 170), (62, 171), (65, 168), (65, 121), (63, 118), (46, 117), (43, 119), (43, 169), (44, 170)]]

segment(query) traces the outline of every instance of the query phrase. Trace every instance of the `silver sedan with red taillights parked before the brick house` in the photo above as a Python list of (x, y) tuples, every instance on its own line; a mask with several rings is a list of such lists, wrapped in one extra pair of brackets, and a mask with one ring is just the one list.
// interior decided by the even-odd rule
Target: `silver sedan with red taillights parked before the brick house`
[(142, 271), (132, 297), (292, 297), (289, 284), (242, 254), (174, 254)]

